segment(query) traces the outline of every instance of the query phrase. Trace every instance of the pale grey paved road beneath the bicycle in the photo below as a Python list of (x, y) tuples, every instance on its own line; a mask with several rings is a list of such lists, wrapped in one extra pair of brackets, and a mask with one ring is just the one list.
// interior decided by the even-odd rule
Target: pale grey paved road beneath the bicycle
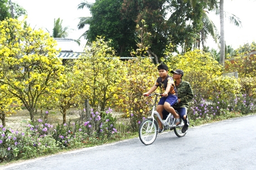
[(0, 169), (256, 169), (256, 115), (157, 136), (152, 145), (139, 138), (71, 151)]

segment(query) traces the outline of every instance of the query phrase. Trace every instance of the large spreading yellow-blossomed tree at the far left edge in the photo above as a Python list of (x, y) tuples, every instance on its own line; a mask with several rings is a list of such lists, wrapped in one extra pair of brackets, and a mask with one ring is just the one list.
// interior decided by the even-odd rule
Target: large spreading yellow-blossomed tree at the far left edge
[(38, 100), (54, 94), (63, 76), (56, 57), (56, 41), (43, 30), (22, 28), (16, 19), (0, 23), (0, 85), (10, 97), (17, 97), (34, 121)]

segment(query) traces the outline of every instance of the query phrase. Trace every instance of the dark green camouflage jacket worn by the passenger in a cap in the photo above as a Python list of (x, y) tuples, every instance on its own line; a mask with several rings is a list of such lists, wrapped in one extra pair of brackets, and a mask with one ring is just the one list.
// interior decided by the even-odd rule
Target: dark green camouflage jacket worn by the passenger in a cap
[(176, 89), (178, 91), (178, 98), (180, 99), (180, 103), (175, 104), (173, 107), (186, 107), (186, 109), (189, 109), (189, 102), (194, 97), (190, 84), (186, 81), (181, 80), (180, 84), (178, 86), (176, 85)]

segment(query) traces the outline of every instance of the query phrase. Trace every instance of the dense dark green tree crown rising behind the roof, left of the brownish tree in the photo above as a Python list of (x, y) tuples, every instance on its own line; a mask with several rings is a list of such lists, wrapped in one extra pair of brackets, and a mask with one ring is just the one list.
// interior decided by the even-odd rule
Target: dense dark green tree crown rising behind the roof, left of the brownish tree
[[(92, 17), (90, 28), (85, 37), (93, 42), (100, 35), (109, 42), (119, 56), (129, 56), (129, 51), (136, 47), (134, 32), (136, 23), (122, 17), (120, 9), (123, 1), (104, 0), (96, 1), (90, 6)], [(87, 19), (88, 20), (88, 19)]]

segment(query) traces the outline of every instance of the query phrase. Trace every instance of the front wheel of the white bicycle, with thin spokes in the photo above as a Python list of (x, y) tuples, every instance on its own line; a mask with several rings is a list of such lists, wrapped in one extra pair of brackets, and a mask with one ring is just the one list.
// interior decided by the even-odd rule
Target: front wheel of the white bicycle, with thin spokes
[(139, 137), (140, 141), (145, 145), (150, 145), (156, 139), (158, 131), (158, 124), (156, 120), (147, 118), (140, 124)]

